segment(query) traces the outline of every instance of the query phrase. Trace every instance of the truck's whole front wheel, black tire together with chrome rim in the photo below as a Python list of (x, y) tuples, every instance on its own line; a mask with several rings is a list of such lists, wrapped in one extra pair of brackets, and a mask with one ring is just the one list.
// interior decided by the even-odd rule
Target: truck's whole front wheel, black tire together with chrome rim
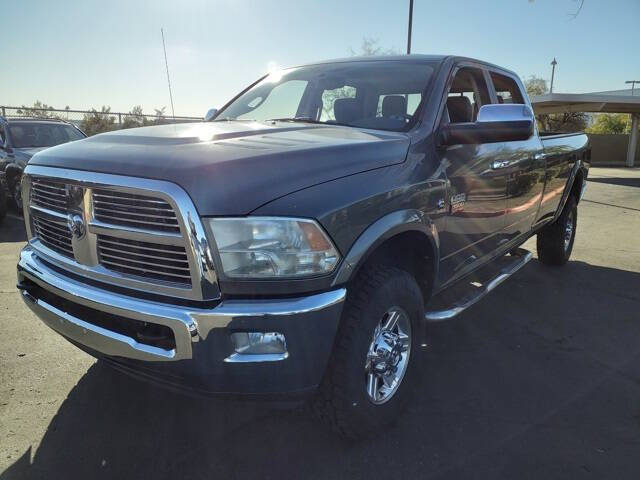
[(395, 267), (365, 267), (349, 290), (314, 410), (359, 438), (390, 425), (416, 388), (424, 302), (415, 279)]

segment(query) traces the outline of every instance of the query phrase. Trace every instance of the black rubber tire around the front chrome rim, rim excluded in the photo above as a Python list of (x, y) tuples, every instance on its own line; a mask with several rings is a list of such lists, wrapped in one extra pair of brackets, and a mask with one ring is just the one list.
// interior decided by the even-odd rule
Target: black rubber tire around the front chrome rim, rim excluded
[[(367, 393), (365, 363), (376, 326), (396, 306), (409, 318), (408, 365), (395, 392), (376, 404)], [(424, 301), (413, 276), (395, 267), (365, 266), (349, 289), (329, 366), (313, 402), (315, 414), (349, 438), (363, 438), (390, 425), (416, 389), (423, 320)]]

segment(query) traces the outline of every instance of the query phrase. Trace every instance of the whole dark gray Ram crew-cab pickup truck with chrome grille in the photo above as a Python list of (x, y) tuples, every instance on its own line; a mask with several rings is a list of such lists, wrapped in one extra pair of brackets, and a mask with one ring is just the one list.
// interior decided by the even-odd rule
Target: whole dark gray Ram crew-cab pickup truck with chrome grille
[(25, 170), (18, 287), (114, 367), (388, 425), (429, 322), (569, 259), (590, 150), (540, 137), (518, 77), (459, 57), (271, 73), (209, 121), (97, 135)]

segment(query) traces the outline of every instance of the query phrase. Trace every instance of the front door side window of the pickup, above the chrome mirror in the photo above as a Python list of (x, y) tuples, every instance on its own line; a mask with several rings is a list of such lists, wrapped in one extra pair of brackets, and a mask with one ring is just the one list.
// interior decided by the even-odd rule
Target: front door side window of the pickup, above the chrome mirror
[(491, 103), (482, 70), (465, 67), (456, 72), (447, 95), (450, 123), (475, 122), (482, 105)]

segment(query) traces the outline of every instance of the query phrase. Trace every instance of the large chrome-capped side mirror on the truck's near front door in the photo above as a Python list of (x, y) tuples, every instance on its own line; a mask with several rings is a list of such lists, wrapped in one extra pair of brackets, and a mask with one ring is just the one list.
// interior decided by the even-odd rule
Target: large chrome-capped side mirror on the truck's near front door
[(522, 104), (484, 105), (475, 123), (451, 123), (440, 132), (441, 145), (515, 142), (533, 135), (535, 117)]

